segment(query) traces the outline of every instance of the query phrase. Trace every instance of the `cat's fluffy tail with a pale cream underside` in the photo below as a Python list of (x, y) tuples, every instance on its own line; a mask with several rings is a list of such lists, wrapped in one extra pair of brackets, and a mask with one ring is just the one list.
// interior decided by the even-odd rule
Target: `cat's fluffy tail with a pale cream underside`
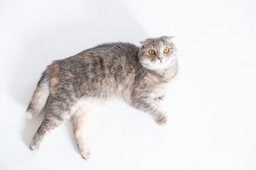
[(50, 94), (49, 82), (50, 82), (50, 67), (48, 67), (43, 72), (36, 86), (36, 90), (33, 92), (33, 96), (26, 110), (27, 118), (32, 119), (35, 115), (38, 115), (39, 113), (41, 113), (44, 106), (46, 106), (46, 101)]

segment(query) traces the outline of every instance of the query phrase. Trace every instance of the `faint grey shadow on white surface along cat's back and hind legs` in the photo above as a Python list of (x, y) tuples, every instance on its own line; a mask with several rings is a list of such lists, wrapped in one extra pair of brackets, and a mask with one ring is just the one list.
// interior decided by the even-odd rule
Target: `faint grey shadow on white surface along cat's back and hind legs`
[[(24, 117), (36, 82), (53, 60), (70, 57), (102, 42), (126, 41), (137, 42), (139, 45), (139, 40), (149, 38), (149, 34), (129, 13), (122, 1), (90, 0), (82, 3), (86, 3), (83, 4), (85, 15), (90, 13), (92, 17), (84, 17), (82, 21), (75, 18), (74, 21), (56, 23), (50, 31), (38, 30), (36, 35), (28, 38), (31, 41), (23, 45), (24, 52), (21, 53), (18, 64), (14, 66), (16, 70), (9, 93), (24, 107)], [(26, 120), (21, 132), (22, 141), (26, 146), (29, 146), (42, 120), (43, 115)], [(74, 147), (78, 150), (70, 123), (65, 123), (65, 126)]]

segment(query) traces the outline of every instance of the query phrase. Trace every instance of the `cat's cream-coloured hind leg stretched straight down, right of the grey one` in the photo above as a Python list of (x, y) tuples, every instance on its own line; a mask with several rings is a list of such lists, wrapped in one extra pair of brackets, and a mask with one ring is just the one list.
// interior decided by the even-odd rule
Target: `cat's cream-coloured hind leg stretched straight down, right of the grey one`
[(85, 159), (90, 158), (90, 149), (88, 146), (88, 132), (92, 118), (92, 113), (79, 108), (77, 113), (72, 116), (73, 130), (78, 142), (78, 148)]

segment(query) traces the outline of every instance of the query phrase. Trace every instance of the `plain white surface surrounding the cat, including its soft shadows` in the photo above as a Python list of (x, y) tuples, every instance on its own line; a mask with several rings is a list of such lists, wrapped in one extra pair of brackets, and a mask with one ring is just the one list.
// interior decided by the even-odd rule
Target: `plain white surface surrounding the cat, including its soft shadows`
[[(256, 169), (256, 1), (0, 1), (0, 169)], [(42, 116), (26, 106), (53, 60), (102, 42), (174, 35), (180, 72), (161, 106), (169, 124), (114, 102), (80, 157), (70, 122), (37, 154)]]

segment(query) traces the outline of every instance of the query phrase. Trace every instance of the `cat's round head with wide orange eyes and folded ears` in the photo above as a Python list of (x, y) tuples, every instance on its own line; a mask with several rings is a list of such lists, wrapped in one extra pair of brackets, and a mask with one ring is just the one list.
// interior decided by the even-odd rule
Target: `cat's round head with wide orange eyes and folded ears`
[(147, 69), (166, 69), (176, 62), (176, 47), (171, 42), (173, 37), (162, 36), (160, 38), (149, 38), (141, 43), (139, 50), (139, 61)]

